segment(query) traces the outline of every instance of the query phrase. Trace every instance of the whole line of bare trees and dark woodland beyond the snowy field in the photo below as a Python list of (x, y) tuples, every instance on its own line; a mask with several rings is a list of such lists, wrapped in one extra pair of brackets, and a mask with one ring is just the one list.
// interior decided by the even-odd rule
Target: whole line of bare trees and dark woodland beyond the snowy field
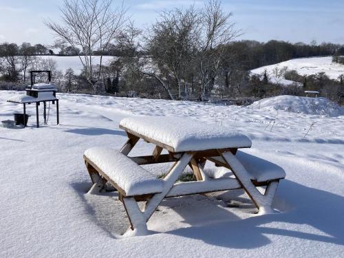
[[(58, 37), (54, 45), (59, 52), (77, 55), (83, 64), (80, 75), (69, 69), (58, 76), (64, 78), (62, 90), (185, 100), (301, 94), (297, 85), (278, 87), (267, 76), (251, 76), (250, 69), (290, 58), (344, 56), (344, 45), (332, 43), (238, 41), (241, 31), (219, 0), (208, 0), (203, 8), (162, 11), (147, 30), (136, 28), (123, 6), (113, 9), (111, 4), (65, 0), (62, 21), (45, 21)], [(0, 66), (9, 67), (0, 69), (7, 71), (1, 72), (2, 80), (25, 80), (8, 72), (14, 71), (8, 56), (23, 56), (20, 50), (1, 52)], [(103, 56), (113, 54), (110, 63), (103, 62)], [(100, 63), (92, 63), (94, 55), (100, 56)]]

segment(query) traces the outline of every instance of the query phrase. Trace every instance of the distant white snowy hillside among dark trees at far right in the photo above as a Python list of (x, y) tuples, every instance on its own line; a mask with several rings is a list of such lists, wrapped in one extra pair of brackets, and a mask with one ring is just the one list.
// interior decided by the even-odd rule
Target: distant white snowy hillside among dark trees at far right
[[(283, 67), (288, 67), (288, 70), (296, 70), (297, 73), (302, 76), (325, 72), (327, 76), (334, 80), (338, 80), (338, 76), (344, 74), (344, 65), (332, 63), (332, 56), (291, 59), (275, 65), (267, 65), (252, 69), (251, 73), (262, 74), (266, 70), (272, 80), (279, 80), (281, 78), (278, 78), (276, 70), (283, 69)], [(283, 84), (283, 81), (281, 84)]]

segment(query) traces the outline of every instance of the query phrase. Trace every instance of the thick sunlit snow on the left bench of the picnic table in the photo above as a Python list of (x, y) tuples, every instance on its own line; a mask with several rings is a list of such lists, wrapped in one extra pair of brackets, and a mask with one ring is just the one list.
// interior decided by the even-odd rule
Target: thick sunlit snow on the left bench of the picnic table
[[(161, 193), (163, 190), (162, 180), (115, 149), (94, 147), (87, 149), (84, 157), (125, 191), (126, 196)], [(96, 167), (94, 169), (98, 170)]]

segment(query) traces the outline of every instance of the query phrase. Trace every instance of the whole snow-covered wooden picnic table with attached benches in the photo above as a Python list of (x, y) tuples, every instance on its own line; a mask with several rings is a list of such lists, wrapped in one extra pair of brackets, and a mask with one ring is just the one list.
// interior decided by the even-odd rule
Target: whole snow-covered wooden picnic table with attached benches
[[(239, 131), (207, 125), (185, 118), (131, 117), (120, 121), (128, 140), (120, 151), (94, 147), (84, 153), (92, 180), (89, 193), (105, 189), (107, 182), (118, 190), (125, 206), (131, 230), (136, 235), (147, 233), (147, 221), (165, 197), (244, 189), (259, 213), (271, 213), (279, 180), (286, 173), (280, 166), (238, 151), (250, 148), (252, 142)], [(155, 144), (152, 155), (129, 157), (138, 140)], [(165, 150), (166, 153), (162, 154)], [(204, 171), (206, 162), (224, 166), (235, 178), (211, 178)], [(171, 169), (158, 179), (142, 166), (173, 162)], [(197, 181), (177, 182), (190, 166)], [(257, 186), (266, 186), (261, 193)], [(141, 211), (137, 202), (146, 202)]]

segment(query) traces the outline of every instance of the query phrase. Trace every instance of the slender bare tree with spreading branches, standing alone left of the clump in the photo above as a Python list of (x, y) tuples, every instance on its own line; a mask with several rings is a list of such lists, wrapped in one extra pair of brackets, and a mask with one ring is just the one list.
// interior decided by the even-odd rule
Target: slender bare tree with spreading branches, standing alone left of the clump
[[(63, 0), (61, 8), (62, 25), (45, 21), (58, 38), (74, 48), (80, 48), (78, 55), (85, 69), (87, 82), (96, 92), (103, 67), (103, 54), (109, 44), (120, 34), (125, 25), (125, 9), (122, 6), (111, 9), (112, 0)], [(93, 63), (93, 53), (100, 54), (100, 64)]]

